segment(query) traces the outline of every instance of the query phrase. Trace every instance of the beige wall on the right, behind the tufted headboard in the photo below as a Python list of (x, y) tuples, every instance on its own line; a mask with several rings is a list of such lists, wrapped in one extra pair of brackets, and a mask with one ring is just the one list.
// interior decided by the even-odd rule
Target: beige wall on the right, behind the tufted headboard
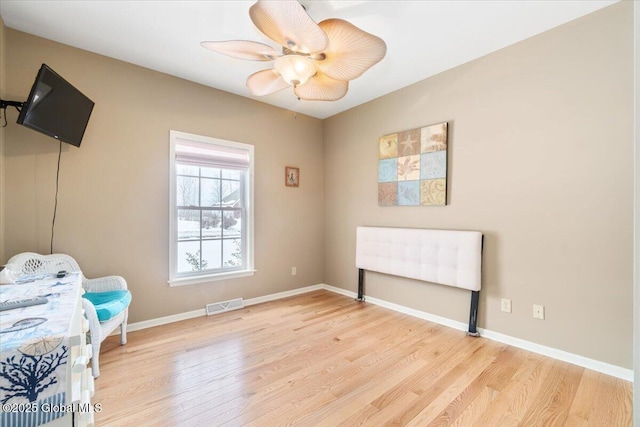
[[(632, 65), (621, 2), (325, 120), (326, 283), (356, 290), (358, 225), (480, 230), (480, 327), (631, 368)], [(378, 207), (377, 138), (442, 121), (449, 205)], [(374, 273), (366, 289), (468, 321), (466, 291)]]

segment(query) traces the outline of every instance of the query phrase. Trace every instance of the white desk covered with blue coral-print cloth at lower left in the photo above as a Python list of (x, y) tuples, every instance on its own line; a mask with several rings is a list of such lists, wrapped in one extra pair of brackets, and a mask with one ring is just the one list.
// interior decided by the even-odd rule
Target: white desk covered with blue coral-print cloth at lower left
[(0, 424), (93, 425), (88, 322), (79, 273), (0, 286), (0, 300), (46, 296), (46, 304), (0, 312)]

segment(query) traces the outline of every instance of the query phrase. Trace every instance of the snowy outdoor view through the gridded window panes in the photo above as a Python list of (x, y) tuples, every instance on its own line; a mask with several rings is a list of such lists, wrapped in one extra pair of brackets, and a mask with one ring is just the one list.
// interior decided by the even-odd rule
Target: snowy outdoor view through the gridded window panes
[(244, 267), (243, 174), (176, 165), (178, 273)]

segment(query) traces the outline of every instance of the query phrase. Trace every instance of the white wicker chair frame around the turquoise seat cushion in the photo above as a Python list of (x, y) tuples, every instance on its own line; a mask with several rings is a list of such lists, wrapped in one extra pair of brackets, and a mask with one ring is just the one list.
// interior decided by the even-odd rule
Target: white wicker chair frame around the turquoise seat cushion
[[(65, 254), (40, 255), (33, 252), (23, 252), (12, 257), (7, 263), (7, 266), (11, 271), (20, 275), (49, 274), (57, 273), (62, 270), (69, 272), (78, 271), (82, 276), (82, 287), (87, 292), (106, 292), (127, 289), (127, 282), (120, 276), (87, 279), (82, 274), (80, 266), (76, 260)], [(100, 322), (98, 320), (96, 309), (89, 300), (82, 298), (82, 308), (84, 309), (85, 316), (89, 321), (89, 337), (91, 339), (91, 350), (93, 353), (91, 359), (91, 371), (93, 377), (98, 378), (100, 375), (98, 361), (100, 356), (100, 344), (118, 326), (120, 326), (121, 332), (120, 344), (125, 345), (127, 343), (127, 317), (129, 315), (129, 309), (125, 309), (120, 314), (105, 322)]]

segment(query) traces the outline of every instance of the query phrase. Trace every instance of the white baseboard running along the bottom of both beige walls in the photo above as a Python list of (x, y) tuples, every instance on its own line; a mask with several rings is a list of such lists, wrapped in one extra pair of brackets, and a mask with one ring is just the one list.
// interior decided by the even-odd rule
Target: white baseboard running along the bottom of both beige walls
[[(294, 295), (304, 294), (307, 292), (317, 291), (324, 289), (330, 292), (334, 292), (340, 295), (345, 295), (351, 298), (357, 298), (358, 294), (346, 289), (338, 288), (335, 286), (321, 283), (319, 285), (306, 286), (304, 288), (293, 289), (290, 291), (278, 292), (275, 294), (265, 295), (256, 298), (249, 298), (245, 300), (245, 306), (260, 304), (267, 301), (275, 301), (282, 298), (287, 298)], [(428, 320), (430, 322), (437, 323), (439, 325), (447, 326), (453, 329), (466, 331), (468, 324), (458, 322), (457, 320), (447, 319), (445, 317), (436, 316), (424, 311), (416, 310), (413, 308), (405, 307), (403, 305), (395, 304), (389, 301), (381, 300), (378, 298), (365, 295), (365, 301), (371, 304), (378, 305), (380, 307), (388, 308), (390, 310), (397, 311), (399, 313), (408, 314), (410, 316), (417, 317), (419, 319)], [(145, 320), (142, 322), (131, 323), (127, 325), (127, 330), (138, 331), (141, 329), (151, 328), (153, 326), (164, 325), (167, 323), (177, 322), (180, 320), (191, 319), (194, 317), (205, 316), (204, 308), (201, 310), (189, 311), (187, 313), (175, 314), (173, 316), (160, 317), (158, 319)], [(531, 341), (526, 341), (520, 338), (515, 338), (509, 335), (504, 335), (499, 332), (494, 332), (488, 329), (478, 328), (480, 336), (490, 339), (492, 341), (508, 344), (513, 347), (521, 348), (523, 350), (531, 351), (533, 353), (541, 354), (543, 356), (551, 357), (553, 359), (561, 360), (563, 362), (571, 363), (583, 368), (591, 369), (592, 371), (601, 372), (603, 374), (611, 375), (612, 377), (620, 378), (625, 381), (633, 382), (633, 370), (622, 368), (620, 366), (611, 365), (609, 363), (601, 362), (599, 360), (590, 359), (588, 357), (580, 356), (578, 354), (569, 353), (567, 351), (558, 350), (556, 348), (547, 347), (541, 344), (536, 344)]]

